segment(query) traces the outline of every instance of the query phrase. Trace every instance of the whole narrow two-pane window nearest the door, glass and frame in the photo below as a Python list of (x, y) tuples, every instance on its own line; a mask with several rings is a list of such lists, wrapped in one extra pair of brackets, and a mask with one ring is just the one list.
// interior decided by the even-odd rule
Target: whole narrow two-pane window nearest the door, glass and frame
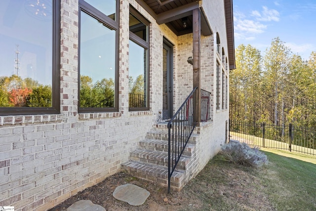
[(149, 22), (131, 7), (129, 14), (129, 110), (149, 109)]

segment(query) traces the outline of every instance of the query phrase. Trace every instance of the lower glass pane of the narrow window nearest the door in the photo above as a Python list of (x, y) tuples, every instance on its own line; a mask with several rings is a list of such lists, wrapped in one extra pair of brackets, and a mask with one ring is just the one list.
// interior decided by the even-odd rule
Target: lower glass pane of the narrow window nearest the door
[(147, 107), (147, 50), (129, 41), (129, 107)]

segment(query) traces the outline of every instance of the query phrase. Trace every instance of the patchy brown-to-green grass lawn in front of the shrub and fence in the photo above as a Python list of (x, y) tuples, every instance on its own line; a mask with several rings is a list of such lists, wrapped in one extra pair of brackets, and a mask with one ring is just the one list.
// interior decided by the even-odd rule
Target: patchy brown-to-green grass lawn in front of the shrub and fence
[[(264, 149), (262, 168), (218, 154), (184, 187), (199, 211), (316, 211), (316, 157)], [(180, 210), (190, 210), (180, 209)]]

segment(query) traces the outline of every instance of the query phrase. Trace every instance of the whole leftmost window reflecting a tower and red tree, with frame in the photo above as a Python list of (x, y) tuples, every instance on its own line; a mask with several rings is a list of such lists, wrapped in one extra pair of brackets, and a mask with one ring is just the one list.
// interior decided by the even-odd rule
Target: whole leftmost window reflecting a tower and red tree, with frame
[(0, 115), (59, 113), (60, 1), (0, 8)]

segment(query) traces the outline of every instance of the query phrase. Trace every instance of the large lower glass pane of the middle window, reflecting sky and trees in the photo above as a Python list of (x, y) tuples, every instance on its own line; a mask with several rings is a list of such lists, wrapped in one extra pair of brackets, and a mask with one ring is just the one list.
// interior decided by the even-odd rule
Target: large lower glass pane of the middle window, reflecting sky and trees
[(114, 107), (115, 36), (98, 20), (81, 11), (80, 107)]

